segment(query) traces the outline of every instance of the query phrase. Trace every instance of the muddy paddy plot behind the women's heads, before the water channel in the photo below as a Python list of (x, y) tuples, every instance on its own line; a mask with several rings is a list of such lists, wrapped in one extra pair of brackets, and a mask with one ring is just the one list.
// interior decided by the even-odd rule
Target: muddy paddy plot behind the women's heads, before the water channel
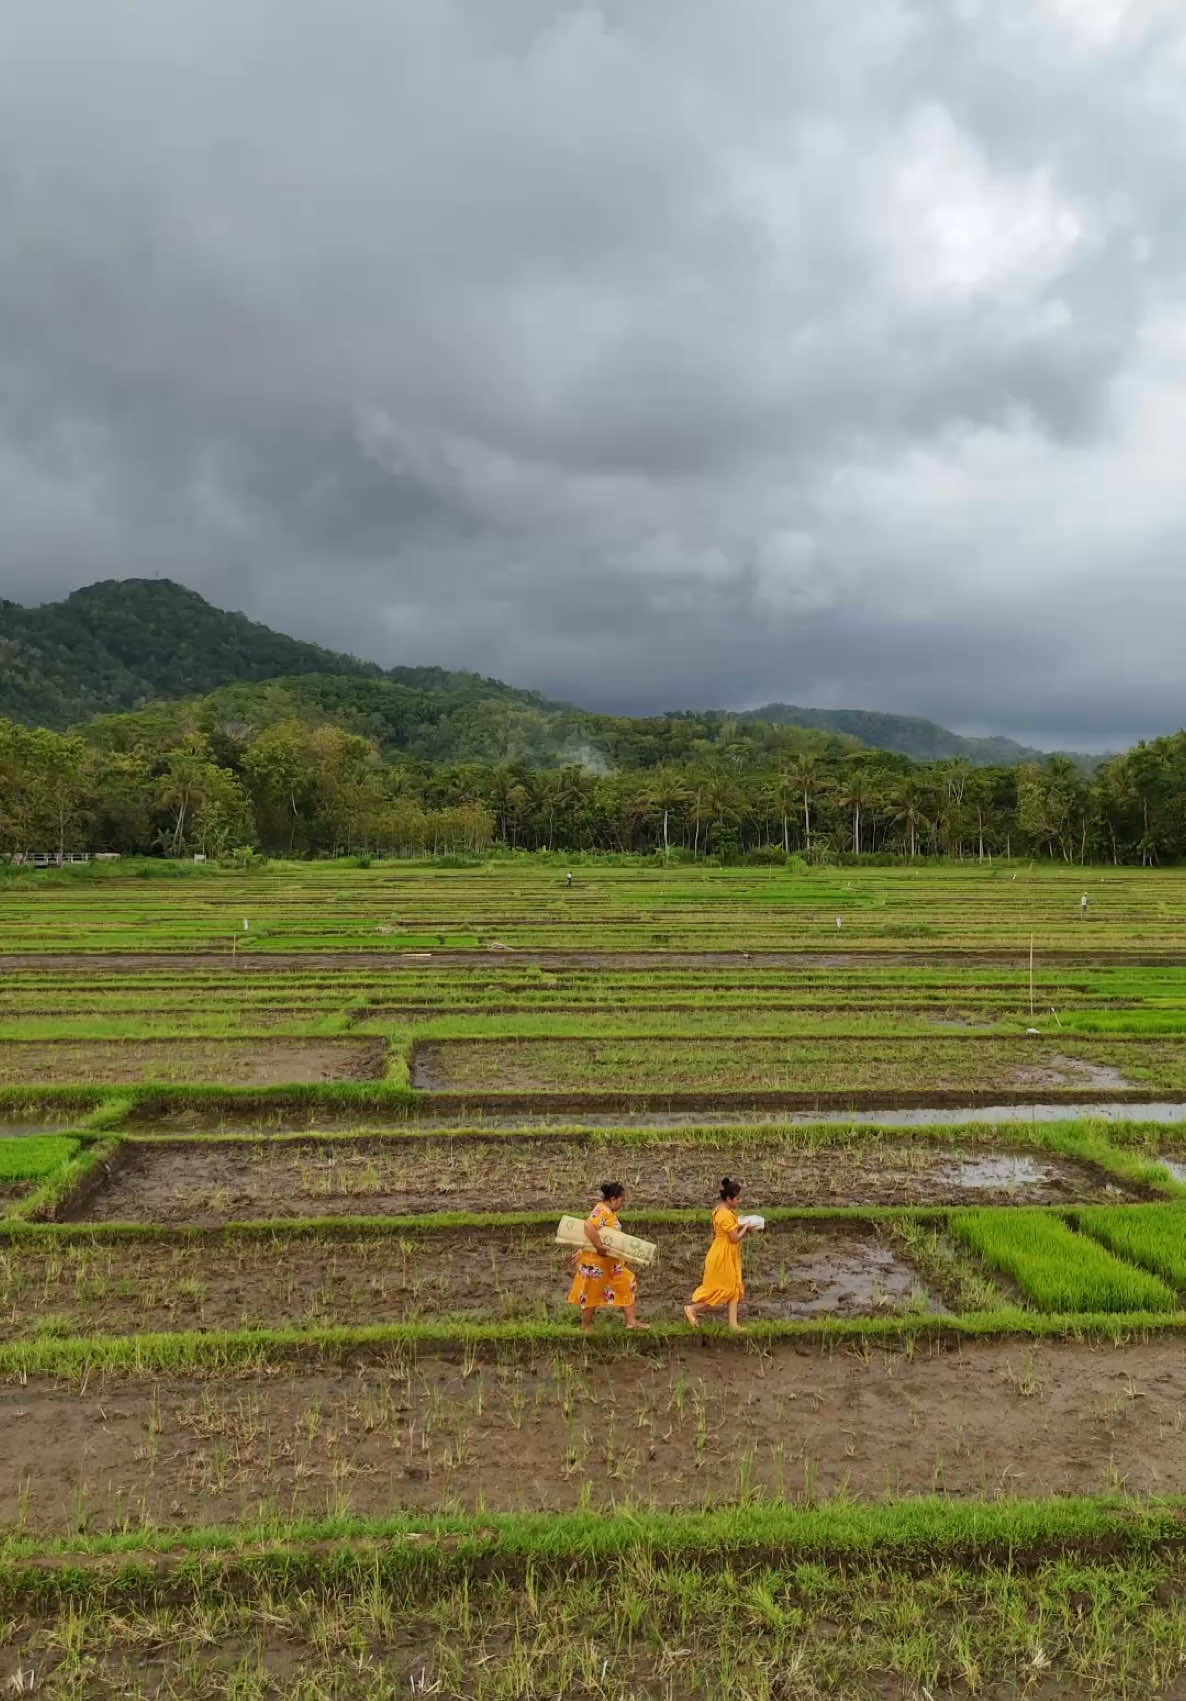
[(425, 1211), (580, 1209), (597, 1182), (628, 1209), (708, 1206), (728, 1170), (762, 1206), (1086, 1204), (1135, 1196), (1104, 1170), (1048, 1153), (931, 1141), (800, 1145), (613, 1136), (128, 1141), (107, 1179), (65, 1216), (196, 1223)]

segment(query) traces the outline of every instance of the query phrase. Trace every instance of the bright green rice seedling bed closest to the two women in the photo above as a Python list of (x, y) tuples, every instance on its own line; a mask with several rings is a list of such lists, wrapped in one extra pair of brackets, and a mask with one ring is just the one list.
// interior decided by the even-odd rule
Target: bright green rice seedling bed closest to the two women
[(1014, 1279), (1041, 1311), (1177, 1310), (1157, 1276), (1115, 1257), (1048, 1211), (953, 1211), (951, 1233)]

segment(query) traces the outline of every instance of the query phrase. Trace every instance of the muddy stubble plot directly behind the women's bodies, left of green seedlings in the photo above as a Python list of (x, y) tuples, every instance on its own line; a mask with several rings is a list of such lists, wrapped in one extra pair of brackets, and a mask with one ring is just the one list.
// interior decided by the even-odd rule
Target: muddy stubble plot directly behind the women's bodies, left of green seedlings
[[(660, 1262), (641, 1274), (650, 1315), (677, 1320), (701, 1277), (703, 1223), (648, 1232)], [(572, 1255), (543, 1228), (315, 1240), (202, 1237), (0, 1247), (0, 1340), (46, 1335), (466, 1317), (577, 1323)], [(888, 1233), (861, 1223), (778, 1223), (745, 1250), (754, 1320), (934, 1310)]]

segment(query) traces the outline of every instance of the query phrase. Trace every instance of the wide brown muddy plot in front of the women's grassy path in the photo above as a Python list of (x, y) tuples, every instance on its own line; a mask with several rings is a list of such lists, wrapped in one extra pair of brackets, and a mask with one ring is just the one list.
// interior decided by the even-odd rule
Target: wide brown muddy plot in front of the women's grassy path
[(0, 1521), (1115, 1493), (1118, 1468), (1126, 1493), (1176, 1493), (1183, 1412), (1177, 1337), (858, 1356), (701, 1335), (614, 1359), (420, 1351), (284, 1374), (32, 1376), (0, 1386)]

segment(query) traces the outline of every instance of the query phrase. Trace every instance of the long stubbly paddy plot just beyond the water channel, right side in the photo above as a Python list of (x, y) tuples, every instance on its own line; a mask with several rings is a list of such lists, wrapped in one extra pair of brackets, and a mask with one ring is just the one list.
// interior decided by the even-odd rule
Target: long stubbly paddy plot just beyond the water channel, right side
[(480, 1092), (994, 1092), (1123, 1090), (1186, 1085), (1186, 1044), (1174, 1039), (1072, 1043), (1067, 1038), (960, 1039), (681, 1038), (419, 1041), (412, 1084)]

